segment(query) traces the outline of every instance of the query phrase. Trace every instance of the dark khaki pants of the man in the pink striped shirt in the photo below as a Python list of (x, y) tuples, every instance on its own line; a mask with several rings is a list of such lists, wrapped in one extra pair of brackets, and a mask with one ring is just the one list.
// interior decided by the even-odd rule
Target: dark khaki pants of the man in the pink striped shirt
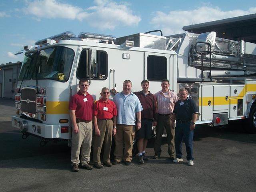
[(167, 144), (168, 144), (168, 154), (170, 157), (175, 158), (175, 146), (174, 146), (174, 135), (175, 130), (171, 128), (171, 119), (172, 115), (164, 116), (158, 114), (158, 120), (156, 125), (156, 140), (155, 140), (155, 155), (160, 156), (162, 150), (161, 150), (161, 144), (162, 144), (162, 134), (164, 132), (164, 128), (166, 130), (167, 134)]

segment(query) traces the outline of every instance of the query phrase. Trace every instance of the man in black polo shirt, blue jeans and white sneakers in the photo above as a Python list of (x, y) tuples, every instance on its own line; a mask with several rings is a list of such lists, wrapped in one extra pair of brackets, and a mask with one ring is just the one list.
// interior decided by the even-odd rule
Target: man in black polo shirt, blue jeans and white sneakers
[(175, 128), (175, 150), (176, 159), (174, 163), (182, 162), (182, 140), (184, 138), (187, 152), (188, 165), (194, 165), (193, 157), (193, 136), (195, 129), (195, 122), (198, 116), (198, 108), (194, 100), (188, 98), (188, 90), (185, 88), (180, 89), (180, 100), (175, 103), (171, 127), (174, 128), (174, 122), (176, 120)]

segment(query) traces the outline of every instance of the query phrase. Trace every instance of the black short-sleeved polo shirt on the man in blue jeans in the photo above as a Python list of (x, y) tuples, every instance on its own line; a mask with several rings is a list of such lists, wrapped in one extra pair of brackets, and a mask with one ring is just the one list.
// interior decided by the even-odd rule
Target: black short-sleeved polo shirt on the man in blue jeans
[(190, 121), (195, 113), (198, 113), (198, 108), (194, 100), (187, 98), (183, 103), (181, 100), (175, 103), (173, 114), (176, 114), (176, 120)]

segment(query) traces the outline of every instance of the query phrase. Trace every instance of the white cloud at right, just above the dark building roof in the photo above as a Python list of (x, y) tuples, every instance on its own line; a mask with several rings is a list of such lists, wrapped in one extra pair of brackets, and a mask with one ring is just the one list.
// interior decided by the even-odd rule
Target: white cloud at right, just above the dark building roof
[(150, 23), (155, 28), (161, 29), (166, 36), (183, 33), (183, 26), (254, 13), (256, 13), (256, 7), (248, 10), (222, 11), (219, 7), (210, 7), (207, 5), (194, 10), (174, 10), (167, 14), (160, 11), (154, 12), (154, 17)]

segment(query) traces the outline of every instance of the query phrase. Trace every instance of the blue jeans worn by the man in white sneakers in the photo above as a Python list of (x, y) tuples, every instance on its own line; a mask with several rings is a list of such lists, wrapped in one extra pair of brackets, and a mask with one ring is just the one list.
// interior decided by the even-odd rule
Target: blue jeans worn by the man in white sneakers
[(187, 152), (187, 160), (194, 160), (192, 144), (193, 136), (194, 130), (190, 131), (190, 122), (176, 122), (174, 141), (177, 158), (182, 158), (182, 139), (184, 138)]

